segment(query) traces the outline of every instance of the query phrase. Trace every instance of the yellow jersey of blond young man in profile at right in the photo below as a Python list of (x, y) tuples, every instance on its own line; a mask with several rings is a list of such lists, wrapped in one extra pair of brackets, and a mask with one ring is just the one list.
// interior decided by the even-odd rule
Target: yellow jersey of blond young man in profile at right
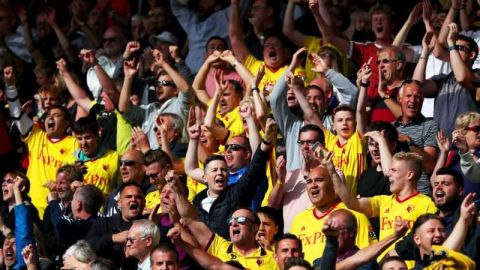
[[(413, 223), (419, 216), (426, 213), (434, 214), (438, 211), (432, 199), (420, 192), (416, 192), (402, 200), (395, 194), (379, 195), (368, 199), (372, 207), (372, 215), (379, 217), (380, 220), (380, 240), (395, 232), (396, 220), (407, 221), (408, 230), (410, 231)], [(387, 248), (379, 256), (379, 259), (383, 258), (385, 253), (391, 250), (394, 245), (392, 244)]]

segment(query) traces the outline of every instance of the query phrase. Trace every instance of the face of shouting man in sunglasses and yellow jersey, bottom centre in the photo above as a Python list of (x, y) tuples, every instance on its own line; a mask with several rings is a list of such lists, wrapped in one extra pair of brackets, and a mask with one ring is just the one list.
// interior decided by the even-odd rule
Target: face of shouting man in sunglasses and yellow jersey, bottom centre
[[(245, 217), (243, 222), (240, 220)], [(232, 214), (230, 226), (230, 239), (234, 245), (248, 245), (255, 241), (258, 224), (254, 224), (253, 213), (246, 209), (239, 209)]]

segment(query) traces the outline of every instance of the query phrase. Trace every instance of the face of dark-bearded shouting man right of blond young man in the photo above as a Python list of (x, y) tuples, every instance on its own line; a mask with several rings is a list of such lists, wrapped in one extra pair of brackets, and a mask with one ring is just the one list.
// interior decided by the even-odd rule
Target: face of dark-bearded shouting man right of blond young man
[(435, 205), (440, 209), (451, 203), (459, 202), (462, 193), (463, 188), (455, 182), (452, 175), (437, 175), (433, 180), (433, 199)]

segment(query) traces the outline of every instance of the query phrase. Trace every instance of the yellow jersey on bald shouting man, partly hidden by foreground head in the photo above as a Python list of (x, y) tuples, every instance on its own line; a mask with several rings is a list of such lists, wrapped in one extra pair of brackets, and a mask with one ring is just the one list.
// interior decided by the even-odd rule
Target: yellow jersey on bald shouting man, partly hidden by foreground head
[(362, 213), (348, 209), (343, 202), (336, 202), (320, 216), (317, 215), (315, 206), (311, 206), (296, 215), (290, 227), (290, 232), (302, 240), (305, 260), (310, 263), (322, 257), (326, 243), (326, 237), (322, 232), (323, 223), (328, 219), (330, 213), (338, 209), (346, 209), (355, 216), (358, 228), (355, 239), (357, 247), (362, 249), (377, 242), (377, 237), (368, 218)]

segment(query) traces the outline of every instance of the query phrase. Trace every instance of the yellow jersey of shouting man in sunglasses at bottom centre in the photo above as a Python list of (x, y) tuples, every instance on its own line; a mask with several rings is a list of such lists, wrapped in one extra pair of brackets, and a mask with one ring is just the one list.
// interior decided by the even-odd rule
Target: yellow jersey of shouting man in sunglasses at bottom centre
[(213, 237), (207, 252), (224, 262), (237, 261), (246, 269), (279, 269), (272, 251), (258, 247), (255, 251), (244, 256), (236, 251), (232, 242), (225, 240), (219, 235)]

